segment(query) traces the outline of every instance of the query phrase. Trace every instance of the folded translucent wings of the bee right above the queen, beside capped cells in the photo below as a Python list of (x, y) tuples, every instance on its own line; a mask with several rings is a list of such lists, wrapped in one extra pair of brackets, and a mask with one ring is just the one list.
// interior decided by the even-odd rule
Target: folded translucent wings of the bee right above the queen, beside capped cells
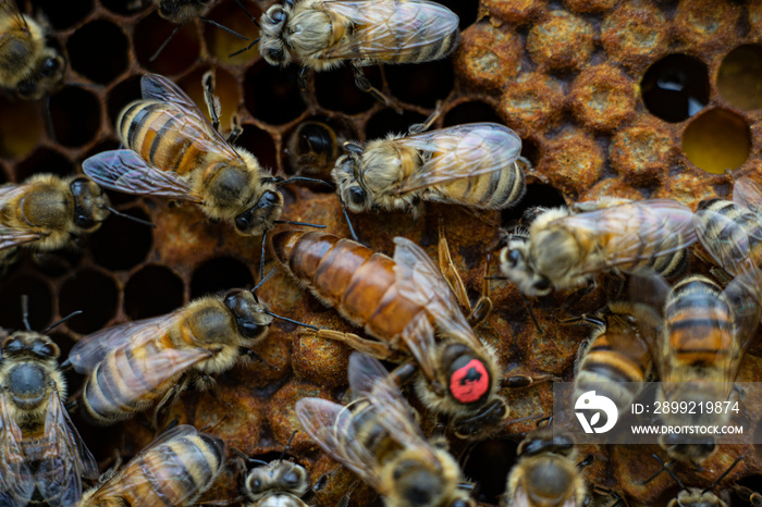
[(431, 153), (431, 159), (402, 183), (398, 190), (403, 193), (503, 171), (521, 154), (521, 138), (497, 123), (457, 125), (394, 143)]

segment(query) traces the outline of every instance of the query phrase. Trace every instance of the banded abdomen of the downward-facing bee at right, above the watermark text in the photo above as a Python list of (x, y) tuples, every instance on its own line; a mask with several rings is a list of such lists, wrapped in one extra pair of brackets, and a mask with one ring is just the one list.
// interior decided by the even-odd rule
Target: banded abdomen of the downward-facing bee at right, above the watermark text
[(680, 281), (669, 293), (664, 313), (667, 339), (662, 353), (674, 357), (675, 367), (730, 371), (733, 309), (714, 282), (700, 275)]

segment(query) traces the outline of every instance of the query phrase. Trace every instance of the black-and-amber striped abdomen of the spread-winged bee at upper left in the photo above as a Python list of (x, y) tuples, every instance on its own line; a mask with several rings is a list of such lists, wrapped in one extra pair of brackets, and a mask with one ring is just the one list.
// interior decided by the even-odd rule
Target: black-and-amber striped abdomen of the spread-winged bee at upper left
[(209, 151), (199, 143), (205, 135), (200, 128), (196, 139), (170, 131), (186, 116), (171, 103), (137, 100), (122, 110), (116, 129), (124, 146), (152, 168), (187, 176), (202, 166)]

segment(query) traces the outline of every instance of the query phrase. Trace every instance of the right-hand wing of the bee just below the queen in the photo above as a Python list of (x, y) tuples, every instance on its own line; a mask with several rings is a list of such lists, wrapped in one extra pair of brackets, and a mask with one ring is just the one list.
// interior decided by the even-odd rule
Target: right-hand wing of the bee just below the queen
[(376, 408), (376, 420), (403, 447), (416, 448), (430, 460), (434, 453), (415, 421), (413, 409), (381, 362), (370, 356), (349, 356), (349, 386), (353, 396), (365, 396)]

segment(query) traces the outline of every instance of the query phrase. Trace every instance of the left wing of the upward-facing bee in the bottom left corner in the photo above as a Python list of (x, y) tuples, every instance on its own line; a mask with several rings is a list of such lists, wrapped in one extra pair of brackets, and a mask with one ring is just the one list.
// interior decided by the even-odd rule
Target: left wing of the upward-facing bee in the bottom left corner
[(22, 434), (11, 417), (11, 408), (0, 393), (0, 502), (26, 505), (35, 491), (35, 481), (24, 459)]

